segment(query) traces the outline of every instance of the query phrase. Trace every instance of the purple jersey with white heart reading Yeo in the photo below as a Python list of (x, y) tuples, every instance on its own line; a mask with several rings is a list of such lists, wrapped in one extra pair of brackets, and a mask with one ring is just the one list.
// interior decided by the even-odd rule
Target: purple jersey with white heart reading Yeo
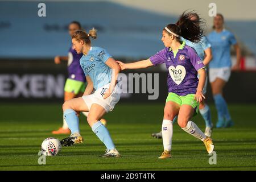
[(166, 63), (166, 68), (168, 69), (168, 92), (176, 93), (179, 96), (195, 94), (199, 82), (197, 71), (205, 68), (203, 61), (201, 61), (195, 50), (185, 46), (184, 42), (177, 51), (176, 56), (174, 55), (174, 52), (167, 47), (151, 56), (150, 61), (154, 65)]

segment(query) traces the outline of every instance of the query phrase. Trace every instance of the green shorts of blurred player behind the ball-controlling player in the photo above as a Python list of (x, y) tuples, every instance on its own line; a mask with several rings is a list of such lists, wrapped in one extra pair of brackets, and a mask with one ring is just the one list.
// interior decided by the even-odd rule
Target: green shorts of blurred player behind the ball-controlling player
[(65, 83), (64, 91), (78, 94), (79, 92), (84, 93), (85, 88), (86, 88), (85, 82), (72, 80), (68, 78)]

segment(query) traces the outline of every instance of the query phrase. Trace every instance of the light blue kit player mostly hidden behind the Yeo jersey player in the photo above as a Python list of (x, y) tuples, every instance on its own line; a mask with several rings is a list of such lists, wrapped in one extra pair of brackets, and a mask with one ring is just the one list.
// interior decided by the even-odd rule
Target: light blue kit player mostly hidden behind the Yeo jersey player
[[(192, 15), (191, 20), (199, 19), (199, 15), (197, 13), (192, 13), (191, 15)], [(179, 22), (177, 22), (176, 24), (179, 25)], [(195, 49), (197, 55), (199, 55), (201, 60), (203, 60), (204, 65), (207, 66), (209, 64), (210, 60), (212, 59), (212, 50), (210, 48), (211, 46), (210, 46), (208, 39), (205, 36), (203, 36), (201, 38), (200, 42), (198, 42), (198, 43), (193, 43), (187, 39), (184, 39), (184, 40), (185, 40), (185, 43), (187, 46)], [(205, 95), (206, 92), (207, 92), (207, 80), (205, 80), (203, 94)], [(199, 111), (205, 121), (206, 127), (205, 127), (204, 134), (207, 135), (208, 137), (211, 137), (213, 123), (212, 123), (212, 118), (210, 116), (210, 107), (207, 104), (205, 104), (204, 100), (200, 102)], [(152, 137), (162, 138), (162, 131), (160, 131), (159, 133), (153, 133)]]

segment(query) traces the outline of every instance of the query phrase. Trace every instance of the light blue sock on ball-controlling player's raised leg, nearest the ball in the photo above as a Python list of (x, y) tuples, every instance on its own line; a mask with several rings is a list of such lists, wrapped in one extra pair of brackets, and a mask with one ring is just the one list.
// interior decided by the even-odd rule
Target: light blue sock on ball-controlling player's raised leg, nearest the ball
[(79, 118), (76, 111), (73, 109), (66, 109), (63, 113), (65, 121), (68, 123), (68, 127), (71, 133), (79, 133)]

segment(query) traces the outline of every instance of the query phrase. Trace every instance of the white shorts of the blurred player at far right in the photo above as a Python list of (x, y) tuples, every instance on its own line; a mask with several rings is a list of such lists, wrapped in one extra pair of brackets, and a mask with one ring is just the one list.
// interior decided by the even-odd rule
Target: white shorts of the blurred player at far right
[(209, 81), (213, 82), (216, 78), (221, 78), (226, 82), (229, 81), (229, 77), (231, 75), (231, 68), (209, 68)]

